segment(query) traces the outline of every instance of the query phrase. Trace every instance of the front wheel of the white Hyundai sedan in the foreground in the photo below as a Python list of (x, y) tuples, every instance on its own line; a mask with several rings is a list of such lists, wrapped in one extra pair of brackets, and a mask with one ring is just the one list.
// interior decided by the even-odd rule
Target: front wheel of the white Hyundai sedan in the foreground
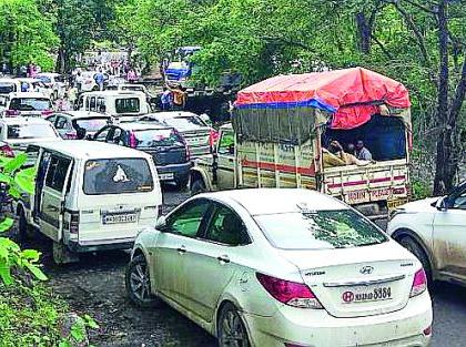
[(149, 266), (143, 255), (136, 255), (128, 264), (124, 284), (128, 297), (138, 307), (150, 308), (160, 305), (160, 299), (151, 294)]

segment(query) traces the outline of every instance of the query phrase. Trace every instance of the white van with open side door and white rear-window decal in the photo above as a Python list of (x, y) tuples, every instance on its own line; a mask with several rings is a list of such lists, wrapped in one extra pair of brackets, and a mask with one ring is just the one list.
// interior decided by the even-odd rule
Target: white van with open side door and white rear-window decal
[(19, 236), (51, 238), (57, 264), (82, 252), (131, 248), (139, 231), (155, 225), (162, 193), (150, 155), (74, 140), (28, 152), (37, 157), (36, 192), (16, 205)]

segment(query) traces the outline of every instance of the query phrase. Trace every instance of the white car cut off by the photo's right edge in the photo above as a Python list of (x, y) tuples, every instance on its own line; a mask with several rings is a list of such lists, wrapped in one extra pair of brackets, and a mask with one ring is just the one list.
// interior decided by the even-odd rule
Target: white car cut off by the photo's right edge
[(399, 206), (387, 231), (417, 256), (428, 279), (466, 286), (466, 182), (447, 196)]

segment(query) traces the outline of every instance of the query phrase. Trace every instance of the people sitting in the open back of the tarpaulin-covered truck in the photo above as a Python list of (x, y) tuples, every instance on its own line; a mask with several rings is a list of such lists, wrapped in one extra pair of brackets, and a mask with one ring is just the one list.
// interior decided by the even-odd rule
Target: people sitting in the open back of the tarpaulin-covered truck
[(375, 163), (372, 153), (364, 145), (362, 140), (356, 143), (348, 143), (346, 151), (338, 141), (333, 140), (330, 142), (327, 149), (323, 149), (323, 163), (325, 167), (358, 165), (364, 166)]

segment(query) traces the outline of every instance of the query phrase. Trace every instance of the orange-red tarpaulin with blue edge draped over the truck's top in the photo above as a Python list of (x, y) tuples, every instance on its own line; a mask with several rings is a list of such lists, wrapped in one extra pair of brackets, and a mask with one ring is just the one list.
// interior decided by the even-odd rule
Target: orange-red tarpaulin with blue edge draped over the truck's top
[(399, 82), (364, 68), (278, 75), (243, 89), (240, 109), (313, 106), (334, 113), (333, 129), (353, 129), (378, 113), (374, 103), (411, 106), (409, 93)]

